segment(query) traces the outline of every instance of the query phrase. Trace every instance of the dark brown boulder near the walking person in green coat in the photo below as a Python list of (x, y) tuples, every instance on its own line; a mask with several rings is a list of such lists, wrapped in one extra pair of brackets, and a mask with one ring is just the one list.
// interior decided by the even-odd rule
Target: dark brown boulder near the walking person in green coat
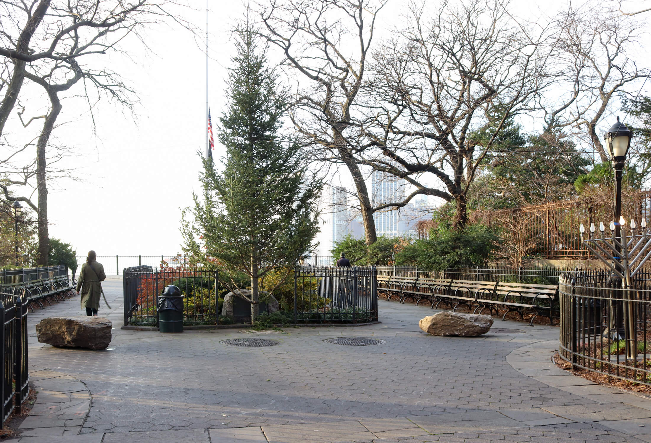
[(39, 343), (59, 348), (106, 349), (113, 323), (103, 317), (49, 317), (36, 325)]

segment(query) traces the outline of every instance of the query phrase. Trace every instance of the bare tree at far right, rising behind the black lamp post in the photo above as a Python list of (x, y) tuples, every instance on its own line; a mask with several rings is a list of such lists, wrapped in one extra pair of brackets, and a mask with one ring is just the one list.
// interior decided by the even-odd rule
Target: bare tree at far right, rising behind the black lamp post
[(554, 94), (556, 100), (550, 100), (550, 94), (542, 104), (547, 110), (547, 130), (574, 128), (574, 135), (587, 141), (602, 162), (607, 162), (609, 155), (598, 125), (618, 106), (617, 99), (630, 92), (632, 82), (650, 74), (629, 55), (636, 49), (644, 25), (586, 3), (562, 12), (556, 27), (559, 40), (554, 61), (559, 70), (555, 87), (561, 93)]

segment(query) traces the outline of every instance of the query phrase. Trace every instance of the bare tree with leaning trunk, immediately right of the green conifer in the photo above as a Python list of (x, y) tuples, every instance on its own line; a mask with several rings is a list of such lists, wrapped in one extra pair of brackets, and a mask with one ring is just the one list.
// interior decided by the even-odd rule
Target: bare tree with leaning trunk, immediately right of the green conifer
[(292, 122), (315, 160), (350, 172), (367, 244), (377, 240), (376, 208), (356, 155), (365, 149), (362, 128), (373, 119), (362, 95), (376, 16), (386, 1), (270, 0), (257, 7), (262, 35), (283, 51), (284, 65), (298, 78)]

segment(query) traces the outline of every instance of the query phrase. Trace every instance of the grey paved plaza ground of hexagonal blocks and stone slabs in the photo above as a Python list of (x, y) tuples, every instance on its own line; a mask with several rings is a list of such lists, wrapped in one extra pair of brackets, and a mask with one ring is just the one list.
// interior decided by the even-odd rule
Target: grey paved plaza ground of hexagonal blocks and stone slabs
[[(39, 394), (23, 437), (9, 441), (651, 442), (651, 398), (557, 369), (550, 326), (496, 321), (482, 337), (433, 337), (418, 328), (432, 309), (381, 300), (382, 323), (371, 326), (163, 335), (120, 330), (122, 280), (104, 289), (113, 309), (102, 304), (100, 315), (115, 328), (108, 350), (36, 341), (40, 319), (81, 315), (79, 297), (30, 314)], [(385, 343), (324, 341), (337, 336)], [(240, 337), (280, 344), (220, 343)]]

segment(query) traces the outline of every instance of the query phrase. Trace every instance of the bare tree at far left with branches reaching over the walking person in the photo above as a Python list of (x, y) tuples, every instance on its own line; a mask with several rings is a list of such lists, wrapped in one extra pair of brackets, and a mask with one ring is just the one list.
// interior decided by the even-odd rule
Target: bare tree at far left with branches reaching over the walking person
[[(46, 115), (31, 117), (27, 123), (23, 121), (25, 108), (21, 107), (18, 112), (23, 126), (44, 119), (35, 142), (35, 160), (23, 165), (14, 162), (17, 154), (33, 145), (27, 143), (21, 149), (10, 148), (13, 152), (8, 152), (0, 162), (3, 173), (9, 176), (5, 184), (0, 184), (5, 199), (25, 201), (38, 214), (38, 264), (47, 264), (48, 261), (47, 182), (53, 179), (55, 173), (69, 172), (51, 168), (53, 161), (61, 160), (64, 155), (61, 149), (48, 149), (52, 148), (51, 134), (62, 109), (60, 94), (69, 91), (83, 79), (81, 95), (87, 98), (91, 116), (94, 103), (102, 96), (133, 110), (133, 91), (117, 73), (107, 68), (94, 70), (87, 65), (81, 68), (79, 59), (110, 51), (122, 52), (124, 50), (120, 43), (126, 38), (137, 38), (145, 43), (141, 31), (161, 18), (171, 18), (186, 29), (191, 29), (187, 22), (167, 11), (169, 5), (174, 5), (174, 2), (75, 0), (60, 3), (42, 0), (37, 5), (36, 1), (28, 4), (0, 0), (0, 6), (5, 12), (3, 17), (6, 18), (0, 21), (0, 44), (5, 46), (0, 47), (0, 55), (6, 57), (3, 69), (10, 78), (3, 85), (6, 91), (0, 102), (0, 137), (6, 138), (3, 128), (10, 112), (18, 103), (25, 78), (40, 85), (49, 102)], [(18, 36), (14, 37), (14, 33), (19, 31)], [(13, 144), (5, 145), (11, 147)], [(36, 204), (32, 195), (16, 197), (8, 190), (11, 185), (29, 188), (33, 184), (32, 180), (35, 180), (34, 188), (38, 195)]]

